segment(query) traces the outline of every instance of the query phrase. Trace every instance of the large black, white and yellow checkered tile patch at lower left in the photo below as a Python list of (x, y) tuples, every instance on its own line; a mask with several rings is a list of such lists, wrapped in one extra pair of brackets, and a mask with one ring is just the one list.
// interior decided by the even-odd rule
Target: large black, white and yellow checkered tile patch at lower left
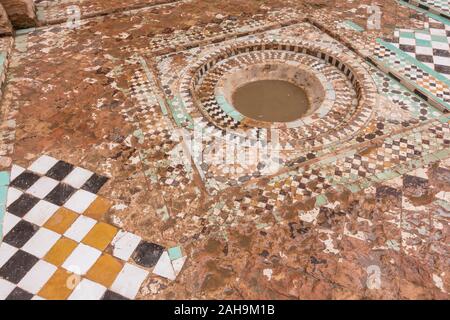
[(98, 220), (110, 207), (97, 195), (107, 180), (49, 156), (19, 170), (0, 244), (0, 299), (136, 297), (165, 249)]

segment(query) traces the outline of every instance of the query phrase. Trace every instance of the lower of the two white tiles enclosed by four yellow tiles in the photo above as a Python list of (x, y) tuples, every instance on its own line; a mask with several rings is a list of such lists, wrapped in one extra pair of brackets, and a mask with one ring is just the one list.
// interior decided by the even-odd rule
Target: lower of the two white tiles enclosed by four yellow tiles
[(62, 267), (78, 275), (84, 275), (94, 265), (100, 254), (99, 250), (80, 243)]

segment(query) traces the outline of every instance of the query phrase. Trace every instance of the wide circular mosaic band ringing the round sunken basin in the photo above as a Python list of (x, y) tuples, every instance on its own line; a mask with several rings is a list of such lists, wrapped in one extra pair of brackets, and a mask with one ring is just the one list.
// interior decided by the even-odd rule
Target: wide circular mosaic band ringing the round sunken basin
[(313, 72), (326, 88), (325, 105), (313, 114), (295, 123), (275, 125), (289, 131), (291, 138), (320, 138), (324, 143), (340, 140), (355, 134), (371, 117), (376, 87), (364, 67), (343, 53), (294, 40), (238, 42), (205, 55), (182, 76), (180, 96), (184, 106), (189, 112), (200, 111), (219, 130), (231, 129), (238, 135), (252, 127), (268, 127), (234, 112), (224, 95), (217, 94), (224, 77), (258, 63), (292, 64)]

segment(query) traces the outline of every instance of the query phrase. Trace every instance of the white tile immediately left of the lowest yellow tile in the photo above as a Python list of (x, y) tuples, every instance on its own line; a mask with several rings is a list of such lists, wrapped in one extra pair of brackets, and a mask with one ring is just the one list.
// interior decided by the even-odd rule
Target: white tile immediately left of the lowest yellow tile
[(18, 286), (32, 294), (37, 294), (55, 273), (56, 266), (39, 260), (33, 268), (22, 278)]

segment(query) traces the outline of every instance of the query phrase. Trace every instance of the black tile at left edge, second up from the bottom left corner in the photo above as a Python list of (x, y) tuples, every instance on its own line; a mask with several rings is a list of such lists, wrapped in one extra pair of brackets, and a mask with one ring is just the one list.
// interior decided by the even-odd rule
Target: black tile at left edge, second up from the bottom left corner
[(35, 256), (19, 250), (1, 267), (0, 277), (18, 284), (38, 261)]

